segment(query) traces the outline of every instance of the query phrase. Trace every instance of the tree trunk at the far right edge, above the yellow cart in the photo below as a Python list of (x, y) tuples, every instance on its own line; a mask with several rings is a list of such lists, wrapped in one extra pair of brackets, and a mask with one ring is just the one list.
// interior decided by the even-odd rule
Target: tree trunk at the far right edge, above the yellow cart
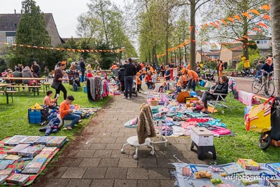
[(280, 4), (279, 0), (270, 0), (270, 15), (272, 19), (272, 53), (274, 64), (274, 83), (276, 96), (280, 95), (279, 74), (280, 74)]

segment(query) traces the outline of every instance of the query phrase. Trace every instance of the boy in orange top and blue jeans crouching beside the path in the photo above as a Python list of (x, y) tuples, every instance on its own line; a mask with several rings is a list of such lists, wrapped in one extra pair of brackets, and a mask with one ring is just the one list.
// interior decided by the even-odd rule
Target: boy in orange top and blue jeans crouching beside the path
[(73, 109), (71, 109), (71, 103), (73, 102), (73, 95), (68, 95), (66, 99), (59, 106), (59, 113), (62, 120), (72, 120), (70, 125), (66, 125), (63, 130), (72, 130), (73, 126), (76, 123), (80, 123), (80, 115), (81, 113), (74, 113)]

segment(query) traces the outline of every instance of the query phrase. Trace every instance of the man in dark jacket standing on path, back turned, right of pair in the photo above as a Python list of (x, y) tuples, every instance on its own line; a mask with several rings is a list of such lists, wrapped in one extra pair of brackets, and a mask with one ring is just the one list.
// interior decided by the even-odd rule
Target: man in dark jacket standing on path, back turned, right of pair
[(130, 90), (130, 99), (132, 97), (132, 88), (133, 88), (133, 76), (137, 74), (137, 69), (134, 64), (132, 64), (132, 59), (128, 59), (128, 64), (125, 64), (125, 97), (128, 99), (128, 90)]

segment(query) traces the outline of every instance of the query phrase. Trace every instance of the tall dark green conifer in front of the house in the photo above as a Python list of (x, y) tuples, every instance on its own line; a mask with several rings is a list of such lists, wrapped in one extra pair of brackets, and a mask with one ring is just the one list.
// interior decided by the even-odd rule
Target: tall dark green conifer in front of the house
[[(22, 1), (22, 18), (16, 32), (17, 43), (27, 46), (49, 46), (50, 36), (45, 29), (45, 15), (33, 0)], [(19, 62), (28, 64), (32, 60), (43, 60), (47, 50), (17, 46), (15, 55)]]

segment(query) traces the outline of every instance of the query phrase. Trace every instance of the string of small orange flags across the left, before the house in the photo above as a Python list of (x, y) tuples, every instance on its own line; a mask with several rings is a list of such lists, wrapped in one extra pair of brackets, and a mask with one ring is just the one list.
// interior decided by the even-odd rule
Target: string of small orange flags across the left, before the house
[(123, 51), (122, 48), (117, 50), (96, 50), (96, 49), (69, 49), (69, 48), (50, 48), (50, 47), (43, 47), (43, 46), (30, 46), (30, 45), (22, 45), (22, 44), (16, 44), (16, 43), (6, 43), (6, 42), (0, 42), (0, 44), (8, 45), (8, 46), (19, 46), (19, 47), (25, 47), (25, 48), (40, 48), (42, 50), (66, 50), (71, 51), (73, 53), (120, 53)]

